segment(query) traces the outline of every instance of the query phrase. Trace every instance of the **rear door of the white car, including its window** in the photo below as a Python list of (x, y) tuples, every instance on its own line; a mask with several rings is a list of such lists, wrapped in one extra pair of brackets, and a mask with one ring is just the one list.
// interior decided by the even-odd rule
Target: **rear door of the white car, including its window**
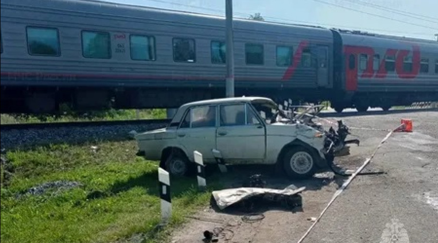
[(205, 162), (214, 161), (212, 149), (216, 148), (216, 114), (216, 105), (194, 106), (186, 112), (178, 127), (177, 139), (189, 153), (189, 158), (198, 151)]

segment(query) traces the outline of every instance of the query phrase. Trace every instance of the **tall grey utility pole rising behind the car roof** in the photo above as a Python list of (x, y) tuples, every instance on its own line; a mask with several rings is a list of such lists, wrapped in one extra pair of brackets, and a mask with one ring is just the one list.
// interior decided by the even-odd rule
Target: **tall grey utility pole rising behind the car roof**
[(234, 41), (233, 41), (233, 0), (225, 0), (226, 21), (226, 97), (234, 97)]

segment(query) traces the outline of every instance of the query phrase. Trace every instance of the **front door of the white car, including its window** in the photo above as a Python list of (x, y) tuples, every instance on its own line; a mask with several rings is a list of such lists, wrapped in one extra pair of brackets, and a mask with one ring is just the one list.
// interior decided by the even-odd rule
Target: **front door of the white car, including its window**
[(261, 163), (266, 156), (266, 129), (248, 104), (219, 105), (216, 146), (226, 162)]

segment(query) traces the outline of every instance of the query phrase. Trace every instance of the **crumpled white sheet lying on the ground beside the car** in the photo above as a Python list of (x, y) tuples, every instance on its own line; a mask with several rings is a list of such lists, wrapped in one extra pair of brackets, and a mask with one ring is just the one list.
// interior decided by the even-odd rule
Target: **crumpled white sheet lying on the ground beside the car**
[(212, 194), (216, 200), (216, 204), (222, 210), (232, 204), (235, 204), (241, 200), (244, 200), (252, 196), (266, 194), (266, 193), (291, 196), (293, 194), (297, 194), (301, 191), (304, 191), (304, 189), (306, 188), (305, 187), (301, 187), (298, 189), (285, 188), (283, 190), (278, 190), (278, 189), (269, 189), (269, 188), (242, 187), (242, 188), (225, 189), (221, 191), (213, 191)]

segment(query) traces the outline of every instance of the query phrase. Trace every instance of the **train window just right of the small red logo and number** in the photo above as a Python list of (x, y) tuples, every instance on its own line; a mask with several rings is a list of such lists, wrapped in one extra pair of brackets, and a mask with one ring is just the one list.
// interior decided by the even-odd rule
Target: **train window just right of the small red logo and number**
[(132, 60), (155, 61), (154, 36), (130, 35), (129, 42)]

